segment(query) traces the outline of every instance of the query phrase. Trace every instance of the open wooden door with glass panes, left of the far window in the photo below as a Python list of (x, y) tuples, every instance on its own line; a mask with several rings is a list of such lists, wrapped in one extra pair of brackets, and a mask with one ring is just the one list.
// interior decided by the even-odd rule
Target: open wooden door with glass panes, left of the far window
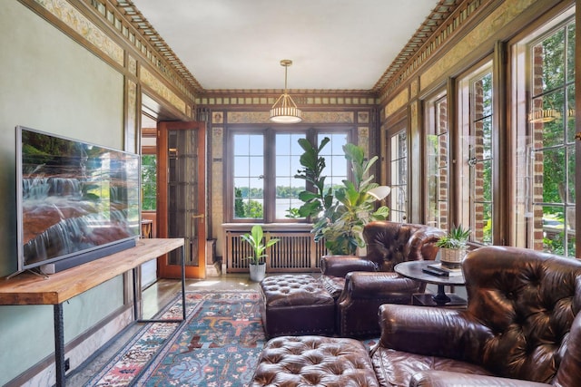
[[(158, 125), (158, 237), (185, 239), (186, 277), (205, 277), (205, 131), (203, 122)], [(181, 251), (159, 259), (159, 276), (182, 276)]]

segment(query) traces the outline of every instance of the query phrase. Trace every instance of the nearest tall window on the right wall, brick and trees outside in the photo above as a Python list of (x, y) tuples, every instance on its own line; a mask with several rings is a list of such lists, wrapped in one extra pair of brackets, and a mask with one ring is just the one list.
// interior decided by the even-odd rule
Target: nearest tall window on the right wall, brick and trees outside
[(576, 256), (575, 38), (571, 17), (515, 49), (518, 68), (528, 69), (517, 77), (527, 85), (518, 94), (527, 111), (517, 133), (517, 229), (524, 236), (517, 243), (563, 256)]

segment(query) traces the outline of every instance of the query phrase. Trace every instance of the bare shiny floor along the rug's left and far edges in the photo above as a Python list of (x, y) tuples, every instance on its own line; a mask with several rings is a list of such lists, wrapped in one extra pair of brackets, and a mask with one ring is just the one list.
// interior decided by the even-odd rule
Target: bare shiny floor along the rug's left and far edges
[[(258, 283), (251, 282), (248, 274), (222, 275), (211, 277), (205, 280), (186, 280), (186, 292), (192, 290), (214, 289), (214, 290), (258, 290)], [(143, 318), (150, 318), (165, 306), (174, 295), (182, 290), (179, 280), (162, 279), (143, 291)], [(75, 370), (67, 377), (67, 385), (82, 386), (95, 372), (98, 372), (104, 363), (107, 363), (119, 348), (123, 346), (142, 327), (140, 324), (133, 324), (122, 334), (115, 337), (105, 348), (103, 348), (93, 359), (86, 362), (82, 369)]]

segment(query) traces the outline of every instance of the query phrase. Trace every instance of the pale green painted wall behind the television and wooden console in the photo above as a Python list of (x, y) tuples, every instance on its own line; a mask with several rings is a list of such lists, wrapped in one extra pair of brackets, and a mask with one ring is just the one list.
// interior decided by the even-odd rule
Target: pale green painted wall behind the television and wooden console
[[(123, 75), (17, 1), (3, 2), (0, 50), (1, 277), (16, 270), (15, 126), (121, 149)], [(122, 305), (121, 277), (76, 297), (65, 340)], [(53, 337), (51, 306), (0, 306), (0, 385), (49, 356)]]

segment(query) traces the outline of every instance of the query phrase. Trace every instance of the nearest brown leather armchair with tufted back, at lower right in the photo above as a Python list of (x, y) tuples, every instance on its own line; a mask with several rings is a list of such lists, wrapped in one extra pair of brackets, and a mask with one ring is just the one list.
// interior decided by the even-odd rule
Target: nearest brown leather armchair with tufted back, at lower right
[(463, 271), (466, 310), (381, 305), (380, 385), (579, 385), (581, 262), (481, 247)]

